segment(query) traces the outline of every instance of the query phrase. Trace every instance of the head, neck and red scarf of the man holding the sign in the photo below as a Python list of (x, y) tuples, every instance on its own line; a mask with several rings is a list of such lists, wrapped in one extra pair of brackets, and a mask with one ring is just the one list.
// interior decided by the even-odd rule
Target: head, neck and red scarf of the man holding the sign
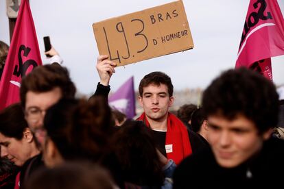
[(165, 73), (145, 75), (139, 84), (138, 98), (144, 112), (138, 120), (153, 130), (160, 151), (178, 164), (191, 155), (192, 149), (187, 128), (169, 113), (169, 107), (174, 103), (173, 90), (171, 78)]

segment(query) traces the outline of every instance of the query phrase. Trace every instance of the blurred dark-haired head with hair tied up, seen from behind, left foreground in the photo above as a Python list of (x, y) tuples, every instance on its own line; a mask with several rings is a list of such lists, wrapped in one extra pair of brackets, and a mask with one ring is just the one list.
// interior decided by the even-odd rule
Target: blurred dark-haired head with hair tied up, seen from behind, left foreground
[(54, 168), (68, 161), (88, 160), (108, 168), (122, 188), (119, 164), (110, 151), (110, 138), (117, 131), (111, 116), (104, 97), (60, 99), (51, 105), (44, 119), (45, 165)]

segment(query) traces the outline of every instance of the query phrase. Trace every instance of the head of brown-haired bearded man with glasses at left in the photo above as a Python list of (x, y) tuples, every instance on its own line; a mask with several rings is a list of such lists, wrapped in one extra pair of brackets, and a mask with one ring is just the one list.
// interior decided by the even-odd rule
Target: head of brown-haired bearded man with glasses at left
[(45, 136), (43, 118), (47, 109), (62, 97), (74, 98), (75, 90), (67, 68), (57, 63), (37, 66), (23, 77), (20, 88), (21, 105), (29, 128), (40, 144)]

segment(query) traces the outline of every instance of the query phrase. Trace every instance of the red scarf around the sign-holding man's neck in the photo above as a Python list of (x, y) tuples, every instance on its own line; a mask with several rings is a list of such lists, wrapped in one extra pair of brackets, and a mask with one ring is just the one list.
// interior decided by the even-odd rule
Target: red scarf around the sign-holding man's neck
[[(147, 121), (147, 117), (145, 116), (145, 112), (141, 114), (139, 121), (143, 121), (147, 127), (150, 127), (149, 122)], [(172, 146), (171, 146), (172, 144)], [(176, 164), (179, 164), (183, 158), (191, 155), (192, 149), (189, 141), (189, 134), (187, 131), (187, 127), (183, 125), (182, 121), (180, 121), (174, 114), (168, 113), (167, 116), (167, 133), (166, 133), (166, 147), (170, 147), (172, 152), (167, 151), (167, 158), (174, 160)]]

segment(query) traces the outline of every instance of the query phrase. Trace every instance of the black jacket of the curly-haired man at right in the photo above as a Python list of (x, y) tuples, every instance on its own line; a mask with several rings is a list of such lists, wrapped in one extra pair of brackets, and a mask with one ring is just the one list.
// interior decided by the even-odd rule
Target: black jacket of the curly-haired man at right
[[(185, 158), (174, 172), (176, 188), (283, 188), (284, 140), (270, 138), (261, 152), (235, 168), (222, 168), (211, 149)], [(279, 174), (280, 173), (280, 174)]]

